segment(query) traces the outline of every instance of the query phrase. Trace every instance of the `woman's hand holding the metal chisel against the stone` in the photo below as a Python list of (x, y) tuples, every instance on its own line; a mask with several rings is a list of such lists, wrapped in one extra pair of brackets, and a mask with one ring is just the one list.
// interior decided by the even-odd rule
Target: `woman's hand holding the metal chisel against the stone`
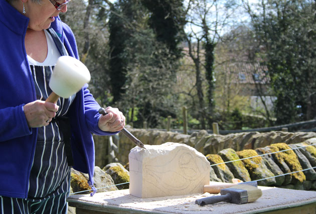
[(99, 119), (98, 125), (102, 131), (115, 132), (123, 129), (125, 126), (125, 116), (118, 108), (107, 107), (105, 111), (108, 113), (102, 115)]

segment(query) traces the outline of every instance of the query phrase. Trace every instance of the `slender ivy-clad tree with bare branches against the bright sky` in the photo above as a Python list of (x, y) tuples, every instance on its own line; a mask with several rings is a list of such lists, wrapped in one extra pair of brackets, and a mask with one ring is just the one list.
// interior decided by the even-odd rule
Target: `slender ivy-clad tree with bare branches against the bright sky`
[[(214, 49), (222, 32), (232, 21), (232, 15), (237, 7), (233, 0), (190, 0), (187, 5), (187, 54), (195, 64), (195, 86), (198, 96), (196, 114), (203, 129), (206, 128), (206, 119), (209, 127), (212, 127), (213, 122)], [(203, 83), (205, 79), (207, 82)], [(207, 87), (206, 98), (203, 84)]]

